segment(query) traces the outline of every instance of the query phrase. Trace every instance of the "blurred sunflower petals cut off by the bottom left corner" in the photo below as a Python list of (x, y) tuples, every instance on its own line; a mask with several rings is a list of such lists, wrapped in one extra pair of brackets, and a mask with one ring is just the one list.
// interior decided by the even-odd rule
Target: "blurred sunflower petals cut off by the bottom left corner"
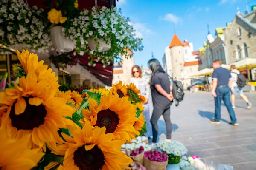
[(31, 134), (20, 139), (10, 139), (6, 128), (0, 127), (0, 169), (30, 170), (36, 167), (44, 153), (28, 148)]

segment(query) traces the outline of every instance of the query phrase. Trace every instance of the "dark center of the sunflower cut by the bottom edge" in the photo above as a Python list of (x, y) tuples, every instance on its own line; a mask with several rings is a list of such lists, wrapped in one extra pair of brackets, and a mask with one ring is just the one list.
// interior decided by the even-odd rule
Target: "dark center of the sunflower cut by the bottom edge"
[(100, 170), (105, 164), (104, 154), (97, 146), (88, 151), (84, 149), (84, 146), (79, 147), (73, 159), (80, 170)]

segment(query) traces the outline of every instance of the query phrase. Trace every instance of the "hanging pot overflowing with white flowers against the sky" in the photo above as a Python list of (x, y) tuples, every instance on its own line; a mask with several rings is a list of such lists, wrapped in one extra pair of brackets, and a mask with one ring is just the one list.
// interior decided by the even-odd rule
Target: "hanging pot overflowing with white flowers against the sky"
[(91, 65), (93, 61), (101, 61), (105, 67), (113, 59), (120, 59), (122, 55), (130, 57), (131, 51), (143, 48), (141, 39), (135, 38), (129, 19), (115, 7), (84, 9), (70, 20), (70, 28), (65, 33), (76, 41), (77, 53), (90, 54)]

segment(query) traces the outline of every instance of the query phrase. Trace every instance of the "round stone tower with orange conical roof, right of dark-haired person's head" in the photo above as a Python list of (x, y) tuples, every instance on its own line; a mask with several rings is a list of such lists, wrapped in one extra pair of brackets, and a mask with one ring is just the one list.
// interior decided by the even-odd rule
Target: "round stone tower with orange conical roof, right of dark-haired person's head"
[(181, 80), (184, 72), (184, 53), (183, 43), (176, 34), (172, 37), (172, 42), (169, 45), (172, 57), (172, 75), (173, 78)]

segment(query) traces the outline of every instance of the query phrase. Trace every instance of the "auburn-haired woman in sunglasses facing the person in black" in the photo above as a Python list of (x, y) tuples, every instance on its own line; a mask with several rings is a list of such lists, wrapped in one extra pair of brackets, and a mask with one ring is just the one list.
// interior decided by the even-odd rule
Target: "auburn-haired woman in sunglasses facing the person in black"
[(148, 105), (148, 97), (149, 97), (149, 88), (148, 83), (142, 79), (142, 71), (138, 65), (134, 65), (131, 69), (132, 78), (130, 83), (134, 83), (136, 87), (140, 90), (140, 95), (145, 96), (146, 101), (143, 103), (144, 111), (143, 116), (145, 116), (147, 122), (147, 133), (145, 134), (148, 138), (152, 137), (152, 126), (150, 123), (150, 112)]

